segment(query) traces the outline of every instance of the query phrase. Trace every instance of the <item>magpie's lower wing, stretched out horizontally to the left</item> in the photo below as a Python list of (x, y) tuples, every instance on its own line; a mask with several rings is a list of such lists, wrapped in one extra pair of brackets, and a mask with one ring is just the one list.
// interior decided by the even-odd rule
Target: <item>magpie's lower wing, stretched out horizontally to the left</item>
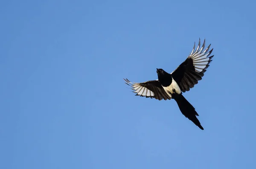
[(157, 100), (171, 100), (171, 97), (165, 92), (158, 80), (151, 80), (143, 83), (132, 83), (128, 79), (124, 80), (126, 84), (132, 87), (136, 96), (150, 97)]

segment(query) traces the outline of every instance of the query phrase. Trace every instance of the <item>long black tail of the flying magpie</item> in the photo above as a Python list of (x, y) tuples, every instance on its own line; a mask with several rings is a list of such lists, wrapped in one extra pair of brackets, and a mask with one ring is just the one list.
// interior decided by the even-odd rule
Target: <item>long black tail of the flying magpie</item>
[(175, 94), (172, 96), (172, 98), (177, 102), (180, 108), (180, 112), (182, 112), (185, 117), (195, 123), (195, 125), (197, 125), (200, 129), (204, 130), (200, 124), (200, 121), (196, 117), (199, 116), (198, 113), (195, 111), (195, 108), (188, 102), (188, 100), (186, 100), (182, 94)]

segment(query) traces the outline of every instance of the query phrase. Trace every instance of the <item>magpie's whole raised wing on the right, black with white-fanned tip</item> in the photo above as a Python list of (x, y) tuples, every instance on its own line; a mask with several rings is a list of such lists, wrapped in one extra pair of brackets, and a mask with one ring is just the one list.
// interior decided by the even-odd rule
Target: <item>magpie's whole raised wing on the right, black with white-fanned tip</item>
[[(212, 53), (212, 50), (209, 51), (211, 44), (204, 50), (205, 40), (203, 46), (200, 48), (200, 38), (198, 47), (195, 50), (194, 48), (187, 57), (187, 59), (180, 64), (180, 66), (173, 71), (172, 77), (179, 85), (182, 92), (189, 91), (190, 88), (193, 88), (199, 80), (202, 80), (204, 72), (209, 67), (209, 63), (212, 61), (212, 56), (209, 56)], [(209, 51), (209, 52), (208, 52)]]

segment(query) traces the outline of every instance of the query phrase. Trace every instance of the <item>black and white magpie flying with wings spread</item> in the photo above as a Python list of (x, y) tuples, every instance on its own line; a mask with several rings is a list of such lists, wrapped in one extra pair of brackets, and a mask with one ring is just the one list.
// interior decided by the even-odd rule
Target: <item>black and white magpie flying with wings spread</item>
[[(186, 100), (182, 92), (189, 91), (193, 88), (199, 80), (202, 80), (204, 72), (209, 67), (212, 61), (211, 44), (204, 50), (205, 40), (203, 46), (200, 48), (200, 38), (197, 49), (195, 44), (192, 52), (186, 60), (180, 64), (171, 74), (165, 72), (163, 69), (157, 69), (157, 80), (150, 80), (143, 83), (132, 83), (128, 79), (124, 79), (125, 83), (132, 87), (133, 92), (138, 96), (155, 98), (157, 100), (171, 100), (174, 99), (180, 112), (195, 123), (200, 129), (204, 130), (196, 116), (199, 116), (195, 108)], [(209, 52), (208, 52), (209, 51)]]

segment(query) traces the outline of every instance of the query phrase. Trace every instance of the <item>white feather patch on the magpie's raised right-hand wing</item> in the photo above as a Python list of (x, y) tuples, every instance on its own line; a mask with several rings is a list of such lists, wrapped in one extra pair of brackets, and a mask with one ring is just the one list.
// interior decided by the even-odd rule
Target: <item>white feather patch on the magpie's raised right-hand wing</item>
[(205, 50), (204, 50), (204, 46), (205, 46), (205, 40), (204, 40), (203, 46), (199, 50), (200, 48), (200, 39), (199, 39), (197, 49), (195, 50), (195, 44), (194, 44), (194, 48), (188, 57), (193, 60), (193, 65), (195, 66), (195, 72), (198, 72), (198, 73), (205, 72), (204, 70), (207, 69), (207, 67), (209, 66), (209, 63), (211, 62), (211, 57), (208, 57), (212, 53), (212, 50), (209, 51), (209, 48), (211, 45), (209, 45)]

